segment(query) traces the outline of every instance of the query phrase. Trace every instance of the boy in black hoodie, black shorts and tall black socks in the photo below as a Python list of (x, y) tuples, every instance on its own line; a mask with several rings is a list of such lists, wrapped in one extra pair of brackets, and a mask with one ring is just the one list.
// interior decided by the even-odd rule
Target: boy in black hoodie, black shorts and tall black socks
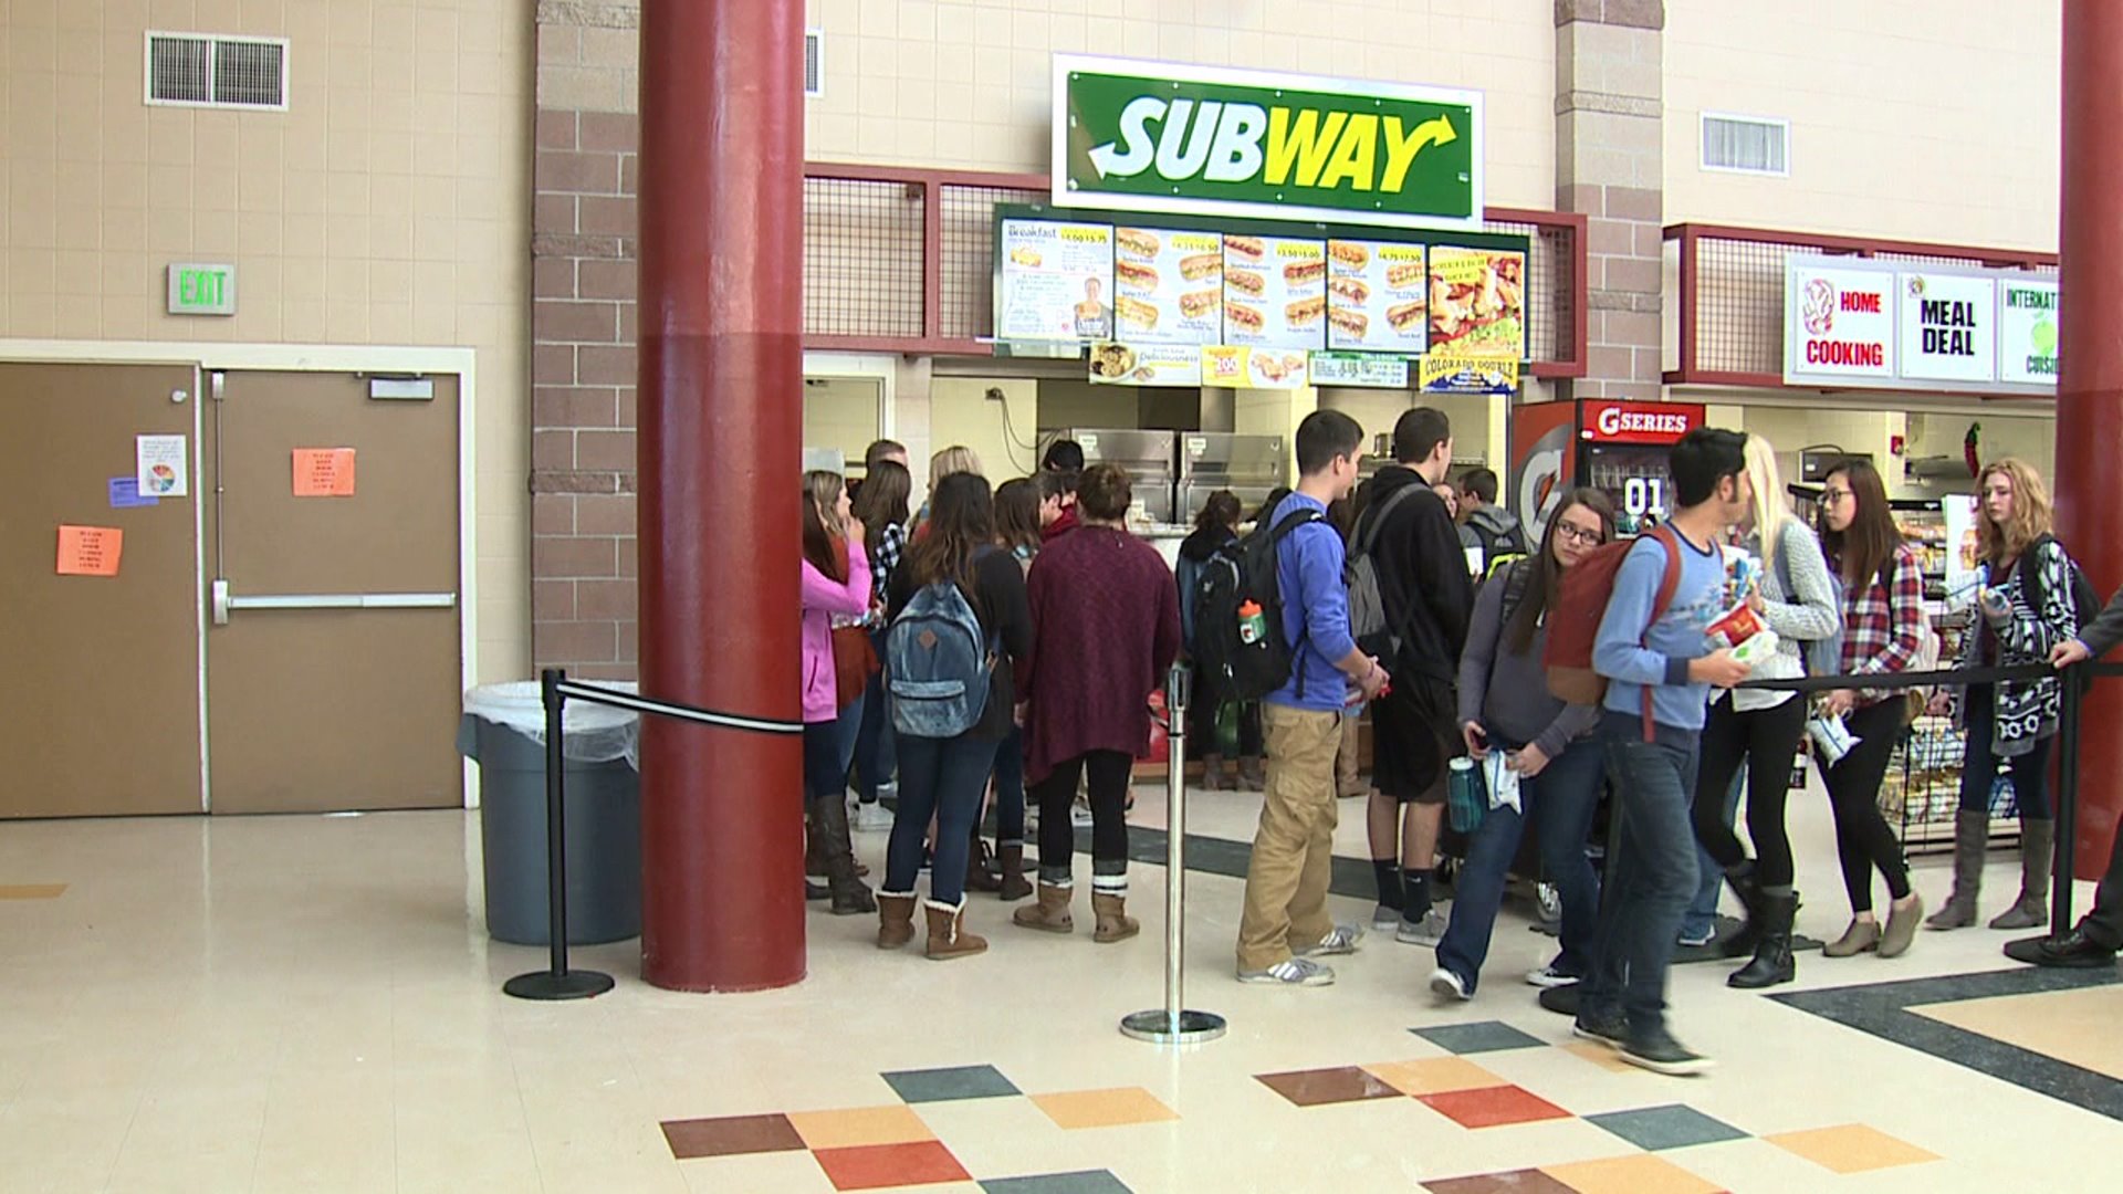
[[(1357, 495), (1357, 535), (1378, 565), (1378, 599), (1399, 637), (1393, 688), (1371, 703), (1367, 831), (1378, 877), (1376, 928), (1437, 945), (1446, 914), (1431, 897), (1446, 809), (1446, 761), (1461, 752), (1452, 682), (1473, 616), (1473, 580), (1459, 527), (1437, 489), (1450, 491), (1452, 421), (1418, 406), (1393, 425), (1393, 457)], [(1376, 523), (1376, 529), (1371, 529)]]

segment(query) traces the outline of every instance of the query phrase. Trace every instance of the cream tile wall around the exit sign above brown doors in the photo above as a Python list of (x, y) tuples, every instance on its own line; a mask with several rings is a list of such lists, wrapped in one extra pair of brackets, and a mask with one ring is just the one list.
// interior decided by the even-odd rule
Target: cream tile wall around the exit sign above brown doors
[[(146, 30), (289, 38), (289, 110), (146, 106)], [(471, 346), (484, 678), (529, 665), (531, 32), (514, 0), (0, 4), (0, 338)], [(236, 317), (163, 312), (200, 259)]]

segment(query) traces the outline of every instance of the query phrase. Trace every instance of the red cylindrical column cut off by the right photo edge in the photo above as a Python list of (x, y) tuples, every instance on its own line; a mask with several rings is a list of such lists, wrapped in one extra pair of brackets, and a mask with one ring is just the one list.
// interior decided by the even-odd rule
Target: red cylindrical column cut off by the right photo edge
[[(2064, 0), (2064, 310), (2057, 523), (2106, 597), (2123, 582), (2123, 4)], [(2123, 680), (2087, 695), (2085, 724), (2123, 722)], [(2066, 761), (2068, 765), (2070, 761)], [(2100, 877), (2123, 812), (2123, 735), (2081, 735), (2072, 869)], [(2061, 924), (2057, 928), (2064, 928)]]

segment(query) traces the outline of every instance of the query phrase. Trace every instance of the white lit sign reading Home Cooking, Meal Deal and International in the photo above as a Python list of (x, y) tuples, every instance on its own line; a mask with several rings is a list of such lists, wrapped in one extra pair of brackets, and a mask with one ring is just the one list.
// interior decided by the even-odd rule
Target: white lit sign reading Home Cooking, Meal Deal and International
[(2053, 393), (2057, 283), (2021, 270), (1790, 257), (1783, 380), (1826, 389)]

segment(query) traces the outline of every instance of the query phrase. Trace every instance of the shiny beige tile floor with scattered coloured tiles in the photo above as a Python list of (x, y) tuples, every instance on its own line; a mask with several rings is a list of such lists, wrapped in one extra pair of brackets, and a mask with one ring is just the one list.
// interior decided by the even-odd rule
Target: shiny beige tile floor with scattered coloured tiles
[[(1248, 801), (1197, 797), (1191, 829), (1248, 837)], [(1359, 801), (1342, 807), (1344, 850), (1361, 854)], [(1161, 818), (1144, 788), (1138, 820)], [(1802, 928), (1832, 935), (1826, 814), (1794, 799), (1794, 829)], [(860, 846), (877, 860), (881, 843)], [(1548, 1047), (1567, 1024), (1516, 982), (1548, 948), (1520, 922), (1499, 926), (1469, 1007), (1435, 1007), (1429, 952), (1391, 941), (1342, 958), (1333, 988), (1233, 984), (1240, 884), (1214, 875), (1191, 884), (1189, 1001), (1231, 1035), (1140, 1045), (1115, 1024), (1159, 999), (1159, 884), (1136, 869), (1144, 935), (1117, 948), (1013, 931), (979, 899), (970, 924), (994, 950), (943, 967), (879, 954), (870, 920), (813, 914), (811, 977), (790, 990), (656, 990), (618, 943), (577, 950), (620, 977), (611, 996), (535, 1005), (499, 992), (543, 952), (486, 939), (478, 814), (4, 824), (0, 888), (47, 894), (0, 901), (0, 1192), (830, 1190), (805, 1154), (673, 1160), (658, 1124), (885, 1107), (805, 1122), (828, 1143), (900, 1139), (913, 1128), (879, 1075), (962, 1064), (1036, 1096), (915, 1107), (981, 1179), (1106, 1169), (1136, 1192), (1354, 1194), (1543, 1169), (1560, 1190), (2115, 1188), (2123, 1124), (1730, 992), (1722, 967), (1673, 979), (1677, 1030), (1720, 1060), (1696, 1081)], [(1943, 873), (1921, 888), (1943, 894)], [(2000, 858), (1991, 903), (2006, 897)], [(2002, 969), (2000, 941), (1805, 958), (1800, 986)], [(1410, 1035), (1484, 1020), (1543, 1045), (1452, 1060)], [(1295, 1107), (1255, 1079), (1323, 1067), (1371, 1067), (1408, 1092)], [(1469, 1130), (1412, 1098), (1450, 1101), (1480, 1075), (1569, 1118)], [(1756, 1139), (1643, 1154), (1582, 1120), (1673, 1103)], [(1881, 1158), (1894, 1164), (1864, 1169)], [(974, 1186), (934, 1190), (949, 1188)]]

